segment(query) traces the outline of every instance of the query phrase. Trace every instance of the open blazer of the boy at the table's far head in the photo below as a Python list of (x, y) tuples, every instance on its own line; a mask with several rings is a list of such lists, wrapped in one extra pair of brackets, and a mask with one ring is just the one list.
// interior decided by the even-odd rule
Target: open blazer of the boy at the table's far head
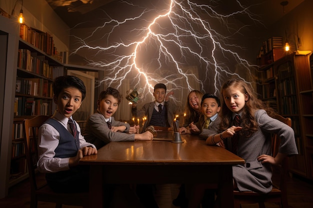
[[(173, 128), (172, 127), (172, 122), (174, 120), (174, 116), (175, 115), (179, 115), (180, 108), (178, 106), (176, 106), (174, 103), (169, 102), (169, 101), (168, 102), (164, 102), (164, 105), (167, 108), (167, 121), (168, 121), (168, 124), (169, 124), (169, 126), (171, 128)], [(163, 106), (163, 108), (165, 106)], [(144, 104), (140, 110), (138, 110), (137, 107), (131, 108), (132, 116), (137, 117), (137, 118), (143, 118), (144, 116), (146, 116), (146, 121), (144, 122), (144, 125), (143, 125), (143, 128), (142, 128), (142, 132), (145, 131), (145, 129), (148, 127), (148, 124), (150, 123), (153, 109), (154, 109), (154, 102), (150, 102), (150, 103)]]

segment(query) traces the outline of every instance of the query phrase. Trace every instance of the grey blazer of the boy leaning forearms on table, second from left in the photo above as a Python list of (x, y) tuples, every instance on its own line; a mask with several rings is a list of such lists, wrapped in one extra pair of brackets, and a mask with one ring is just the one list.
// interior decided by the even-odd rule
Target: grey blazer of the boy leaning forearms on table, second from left
[(84, 136), (86, 141), (94, 144), (97, 149), (108, 144), (111, 141), (134, 141), (134, 134), (126, 133), (129, 131), (129, 124), (115, 121), (114, 117), (111, 117), (111, 125), (125, 126), (126, 130), (124, 132), (112, 132), (108, 128), (104, 117), (100, 113), (95, 112), (88, 117), (82, 135)]

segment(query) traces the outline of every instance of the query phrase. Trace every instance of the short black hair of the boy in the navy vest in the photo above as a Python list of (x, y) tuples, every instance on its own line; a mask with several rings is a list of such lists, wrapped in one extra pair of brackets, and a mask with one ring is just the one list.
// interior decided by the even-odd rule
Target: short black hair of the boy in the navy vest
[(86, 96), (86, 87), (83, 81), (75, 76), (64, 75), (56, 77), (52, 83), (53, 94), (58, 97), (60, 92), (68, 87), (77, 88), (81, 92), (81, 101), (83, 101)]

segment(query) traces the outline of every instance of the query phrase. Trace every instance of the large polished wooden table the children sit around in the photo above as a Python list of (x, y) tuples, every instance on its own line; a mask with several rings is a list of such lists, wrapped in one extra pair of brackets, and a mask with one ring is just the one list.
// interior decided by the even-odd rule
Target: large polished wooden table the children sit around
[[(158, 132), (171, 138), (172, 132)], [(158, 136), (158, 137), (159, 137)], [(86, 156), (90, 165), (90, 208), (102, 208), (102, 184), (196, 184), (218, 187), (220, 207), (233, 207), (231, 166), (244, 160), (218, 146), (205, 145), (196, 135), (170, 141), (110, 142), (97, 155)]]

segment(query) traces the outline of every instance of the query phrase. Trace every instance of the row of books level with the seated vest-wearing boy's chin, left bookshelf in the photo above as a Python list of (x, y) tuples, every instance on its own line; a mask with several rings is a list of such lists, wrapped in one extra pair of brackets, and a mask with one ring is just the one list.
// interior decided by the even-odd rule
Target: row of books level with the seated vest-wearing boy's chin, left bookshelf
[(15, 97), (14, 115), (49, 115), (52, 112), (52, 100)]

